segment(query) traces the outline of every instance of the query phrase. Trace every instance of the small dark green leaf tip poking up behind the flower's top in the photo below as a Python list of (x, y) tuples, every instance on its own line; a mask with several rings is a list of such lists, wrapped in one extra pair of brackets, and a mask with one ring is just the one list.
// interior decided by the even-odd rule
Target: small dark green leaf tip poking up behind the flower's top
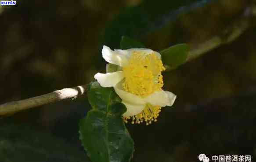
[(126, 36), (122, 36), (122, 39), (120, 42), (120, 48), (121, 49), (145, 48), (145, 46), (141, 42), (138, 42), (135, 39), (131, 39)]

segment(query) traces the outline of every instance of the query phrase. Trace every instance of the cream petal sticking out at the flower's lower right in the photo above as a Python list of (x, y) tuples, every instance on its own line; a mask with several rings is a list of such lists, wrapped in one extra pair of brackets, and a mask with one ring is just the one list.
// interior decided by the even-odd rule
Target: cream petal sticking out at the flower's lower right
[(163, 90), (154, 92), (153, 94), (144, 98), (145, 102), (161, 107), (172, 106), (175, 99), (176, 95), (174, 95), (172, 92)]

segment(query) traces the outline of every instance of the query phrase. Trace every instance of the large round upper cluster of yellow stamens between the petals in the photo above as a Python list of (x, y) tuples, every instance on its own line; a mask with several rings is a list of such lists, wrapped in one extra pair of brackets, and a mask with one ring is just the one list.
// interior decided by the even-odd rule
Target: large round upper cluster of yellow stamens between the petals
[(125, 91), (141, 97), (148, 96), (163, 86), (161, 72), (165, 70), (155, 53), (135, 51), (132, 53), (129, 64), (123, 67)]

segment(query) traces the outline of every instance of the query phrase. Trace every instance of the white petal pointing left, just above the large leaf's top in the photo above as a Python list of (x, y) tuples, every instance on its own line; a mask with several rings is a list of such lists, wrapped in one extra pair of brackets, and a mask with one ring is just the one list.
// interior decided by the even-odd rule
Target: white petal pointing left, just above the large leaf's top
[(100, 83), (102, 87), (114, 87), (118, 82), (123, 80), (123, 71), (114, 73), (97, 73), (94, 78)]

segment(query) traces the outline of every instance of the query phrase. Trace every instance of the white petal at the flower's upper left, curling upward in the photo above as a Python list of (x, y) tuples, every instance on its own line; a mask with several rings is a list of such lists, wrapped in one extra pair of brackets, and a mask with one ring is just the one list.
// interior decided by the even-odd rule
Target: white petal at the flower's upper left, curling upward
[(102, 56), (108, 63), (113, 63), (121, 67), (128, 64), (126, 55), (117, 50), (113, 51), (108, 46), (103, 46)]

